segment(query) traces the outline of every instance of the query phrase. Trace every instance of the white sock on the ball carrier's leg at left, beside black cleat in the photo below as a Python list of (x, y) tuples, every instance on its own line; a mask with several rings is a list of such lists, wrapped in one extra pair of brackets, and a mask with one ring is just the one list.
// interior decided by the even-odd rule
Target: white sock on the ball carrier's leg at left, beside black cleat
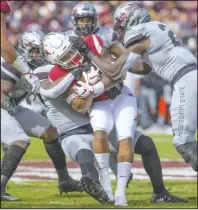
[(100, 183), (105, 192), (111, 198), (113, 196), (113, 193), (109, 176), (109, 153), (95, 154), (95, 158), (100, 176)]

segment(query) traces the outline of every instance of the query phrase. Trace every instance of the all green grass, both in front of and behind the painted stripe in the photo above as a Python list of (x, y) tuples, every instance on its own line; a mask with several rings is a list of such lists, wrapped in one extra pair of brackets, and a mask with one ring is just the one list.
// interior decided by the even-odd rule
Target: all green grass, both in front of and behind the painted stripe
[[(181, 159), (172, 145), (172, 136), (152, 135), (160, 158)], [(2, 154), (1, 154), (2, 157)], [(139, 156), (135, 156), (139, 159)], [(48, 160), (43, 143), (32, 139), (23, 160)], [(115, 190), (115, 181), (113, 189)], [(127, 189), (128, 208), (197, 208), (196, 181), (169, 181), (165, 185), (172, 194), (189, 199), (188, 204), (150, 204), (152, 186), (149, 180), (133, 180)], [(18, 202), (1, 202), (1, 208), (115, 208), (102, 205), (86, 193), (68, 193), (60, 195), (56, 181), (10, 182), (8, 192), (21, 198)]]

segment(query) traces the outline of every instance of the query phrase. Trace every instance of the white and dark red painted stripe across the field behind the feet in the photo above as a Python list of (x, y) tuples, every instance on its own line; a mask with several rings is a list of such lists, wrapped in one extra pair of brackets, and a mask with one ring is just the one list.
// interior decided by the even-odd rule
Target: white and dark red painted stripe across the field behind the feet
[[(67, 161), (68, 171), (70, 175), (79, 180), (81, 178), (81, 171), (79, 165), (72, 161)], [(196, 180), (197, 173), (193, 171), (182, 160), (170, 160), (162, 159), (162, 172), (163, 178), (166, 180)], [(110, 170), (110, 178), (115, 180), (115, 176)], [(136, 180), (148, 180), (149, 177), (146, 174), (141, 160), (136, 160), (133, 164), (133, 175)], [(57, 174), (53, 168), (51, 161), (22, 161), (17, 167), (17, 170), (13, 174), (11, 180), (16, 182), (34, 181), (34, 180), (57, 180)]]

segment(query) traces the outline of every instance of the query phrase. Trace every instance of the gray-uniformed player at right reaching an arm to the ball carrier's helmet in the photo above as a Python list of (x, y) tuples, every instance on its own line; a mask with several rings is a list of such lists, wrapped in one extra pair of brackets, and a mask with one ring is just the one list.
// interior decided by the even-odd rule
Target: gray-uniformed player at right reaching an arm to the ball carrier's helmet
[[(166, 24), (151, 20), (142, 2), (127, 2), (119, 6), (114, 13), (114, 25), (118, 39), (126, 47), (114, 64), (104, 62), (93, 54), (80, 37), (73, 37), (71, 41), (111, 79), (118, 79), (142, 59), (169, 81), (174, 89), (171, 103), (173, 144), (184, 161), (197, 171), (196, 58), (180, 45)], [(144, 68), (139, 69), (139, 73), (142, 71)], [(104, 88), (104, 82), (103, 86), (100, 85)]]

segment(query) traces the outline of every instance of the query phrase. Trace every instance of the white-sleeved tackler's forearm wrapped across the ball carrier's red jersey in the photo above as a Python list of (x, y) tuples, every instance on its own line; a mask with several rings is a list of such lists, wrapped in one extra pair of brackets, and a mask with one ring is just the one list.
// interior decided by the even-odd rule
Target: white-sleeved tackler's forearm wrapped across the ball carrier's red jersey
[(49, 82), (48, 85), (42, 83), (40, 94), (47, 98), (57, 98), (69, 88), (74, 79), (75, 77), (69, 73), (53, 83)]

